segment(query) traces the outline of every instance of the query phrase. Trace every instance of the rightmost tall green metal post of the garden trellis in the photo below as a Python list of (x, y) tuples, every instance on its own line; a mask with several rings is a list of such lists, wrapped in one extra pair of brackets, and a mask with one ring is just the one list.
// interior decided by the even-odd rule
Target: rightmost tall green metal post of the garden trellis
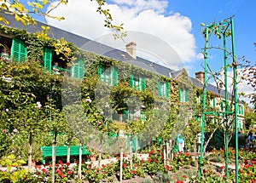
[(238, 169), (239, 169), (239, 162), (238, 162), (238, 129), (237, 129), (237, 81), (236, 81), (236, 69), (237, 69), (237, 64), (236, 64), (236, 48), (235, 48), (235, 35), (234, 35), (234, 21), (232, 18), (230, 18), (231, 21), (231, 32), (232, 32), (232, 55), (233, 55), (233, 72), (234, 72), (234, 102), (235, 102), (235, 136), (236, 136), (236, 183), (239, 182), (238, 180)]

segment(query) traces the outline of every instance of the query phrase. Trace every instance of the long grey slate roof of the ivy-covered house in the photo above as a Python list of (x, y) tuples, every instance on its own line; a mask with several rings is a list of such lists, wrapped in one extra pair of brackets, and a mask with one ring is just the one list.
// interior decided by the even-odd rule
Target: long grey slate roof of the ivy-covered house
[[(38, 21), (38, 26), (36, 27), (32, 25), (22, 26), (20, 22), (17, 22), (15, 20), (14, 16), (9, 14), (3, 14), (3, 13), (0, 13), (0, 14), (6, 20), (9, 21), (10, 27), (24, 29), (30, 33), (41, 30), (41, 26), (45, 26), (45, 24), (40, 21)], [(97, 43), (86, 37), (81, 37), (72, 32), (61, 30), (60, 28), (57, 28), (55, 26), (49, 26), (49, 27), (52, 34), (54, 35), (54, 38), (61, 39), (61, 37), (64, 37), (68, 43), (73, 43), (76, 47), (80, 49), (84, 49), (85, 51), (104, 55), (104, 56), (107, 56), (108, 58), (113, 58), (114, 60), (124, 61), (125, 63), (138, 66), (140, 68), (146, 69), (148, 71), (152, 71), (156, 74), (160, 74), (165, 77), (176, 78), (180, 73), (180, 71), (174, 71), (171, 68), (167, 68), (166, 66), (160, 66), (159, 64), (153, 63), (152, 61), (149, 61), (149, 60), (145, 60), (141, 57), (137, 57), (137, 59), (134, 60), (132, 59), (130, 54), (122, 50), (114, 49), (102, 43)], [(49, 34), (49, 37), (53, 38), (51, 34)], [(195, 87), (203, 89), (203, 83), (201, 83), (201, 81), (199, 81), (194, 77), (190, 77), (190, 80), (193, 84), (195, 84)], [(213, 94), (218, 94), (217, 87), (212, 84), (207, 84), (207, 90), (212, 92)], [(220, 91), (220, 95), (224, 97), (224, 90)], [(230, 96), (231, 94), (229, 94), (229, 97)]]

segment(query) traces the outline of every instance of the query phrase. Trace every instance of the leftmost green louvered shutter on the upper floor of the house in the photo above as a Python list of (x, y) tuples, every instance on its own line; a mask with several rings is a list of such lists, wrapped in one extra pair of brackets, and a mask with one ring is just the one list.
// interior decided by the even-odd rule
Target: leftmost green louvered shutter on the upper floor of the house
[(26, 60), (26, 43), (14, 38), (11, 49), (11, 56), (15, 61), (23, 62)]

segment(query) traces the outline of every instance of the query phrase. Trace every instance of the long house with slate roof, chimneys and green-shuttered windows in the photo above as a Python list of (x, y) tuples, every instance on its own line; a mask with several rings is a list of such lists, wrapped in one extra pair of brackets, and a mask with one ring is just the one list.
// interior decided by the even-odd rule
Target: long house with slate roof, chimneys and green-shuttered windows
[[(32, 52), (32, 50), (28, 50), (31, 48), (26, 45), (26, 43), (29, 43), (26, 35), (40, 30), (41, 26), (45, 25), (42, 22), (38, 22), (37, 29), (35, 29), (35, 27), (32, 25), (24, 27), (19, 22), (15, 21), (13, 16), (8, 14), (1, 15), (3, 15), (5, 19), (9, 21), (9, 26), (2, 25), (0, 27), (0, 43), (7, 45), (7, 47), (11, 50), (9, 53), (11, 60), (23, 62), (29, 56), (28, 53)], [(11, 33), (11, 31), (5, 31), (11, 28), (22, 31), (20, 31), (21, 33), (14, 33), (16, 31), (13, 31), (13, 33)], [(200, 92), (194, 94), (193, 88), (198, 89), (198, 91), (203, 89), (202, 79), (204, 78), (204, 72), (195, 73), (194, 78), (189, 77), (188, 73), (184, 69), (181, 71), (174, 71), (171, 68), (160, 66), (156, 63), (153, 64), (152, 61), (145, 60), (136, 55), (137, 45), (134, 42), (128, 43), (126, 45), (125, 52), (119, 49), (111, 48), (108, 45), (104, 45), (102, 43), (96, 43), (88, 38), (75, 35), (72, 32), (64, 31), (54, 26), (50, 26), (50, 30), (52, 33), (49, 35), (50, 38), (61, 39), (61, 37), (64, 37), (67, 43), (73, 43), (76, 48), (83, 49), (88, 53), (94, 53), (96, 55), (103, 56), (104, 58), (110, 58), (111, 60), (113, 60), (113, 62), (115, 60), (119, 61), (125, 64), (125, 66), (133, 66), (132, 68), (135, 72), (131, 72), (129, 76), (126, 76), (125, 78), (127, 80), (127, 77), (129, 77), (128, 80), (132, 89), (137, 89), (137, 91), (144, 91), (147, 87), (149, 87), (149, 89), (152, 90), (156, 89), (157, 96), (160, 99), (172, 101), (172, 96), (176, 94), (178, 97), (178, 101), (174, 102), (180, 102), (181, 104), (191, 104), (194, 102), (195, 98), (195, 103), (197, 103), (198, 105), (201, 104), (202, 95)], [(22, 33), (24, 35), (22, 35)], [(52, 37), (52, 35), (54, 37)], [(85, 73), (83, 59), (78, 58), (77, 60), (73, 60), (70, 62), (67, 60), (61, 60), (60, 54), (57, 54), (55, 50), (50, 48), (48, 44), (45, 45), (46, 46), (44, 46), (44, 48), (42, 48), (41, 50), (43, 54), (40, 57), (45, 70), (49, 71), (49, 73), (54, 73), (55, 69), (57, 68), (58, 72), (66, 71), (69, 77), (84, 77)], [(72, 64), (70, 65), (70, 63)], [(117, 87), (119, 85), (119, 81), (122, 80), (122, 77), (120, 77), (122, 71), (119, 71), (119, 68), (114, 66), (113, 63), (109, 65), (107, 62), (104, 61), (98, 63), (97, 66), (97, 74), (100, 81), (102, 81), (103, 83), (108, 83), (110, 86), (113, 87)], [(137, 69), (134, 68), (140, 68), (143, 70), (137, 71)], [(154, 86), (152, 86), (152, 83), (148, 83), (148, 80), (146, 78), (148, 73), (158, 76), (158, 81), (154, 83)], [(175, 88), (176, 84), (177, 89)], [(211, 107), (212, 110), (217, 110), (220, 112), (224, 111), (224, 90), (219, 90), (216, 86), (208, 83), (207, 92), (211, 95), (210, 98), (207, 98), (208, 106)], [(229, 94), (229, 100), (231, 100), (231, 97), (231, 94)], [(120, 110), (117, 112), (117, 114), (113, 115), (114, 119), (125, 122), (131, 117), (140, 116), (141, 120), (145, 120), (143, 107), (139, 109), (139, 111), (131, 112), (131, 109), (124, 105), (122, 107), (119, 107)], [(191, 107), (189, 108), (189, 110), (193, 111)], [(195, 114), (195, 117), (198, 117), (200, 120), (200, 114)], [(212, 120), (214, 120), (214, 117), (212, 117)], [(239, 104), (238, 120), (239, 129), (243, 129), (244, 106), (241, 104)]]

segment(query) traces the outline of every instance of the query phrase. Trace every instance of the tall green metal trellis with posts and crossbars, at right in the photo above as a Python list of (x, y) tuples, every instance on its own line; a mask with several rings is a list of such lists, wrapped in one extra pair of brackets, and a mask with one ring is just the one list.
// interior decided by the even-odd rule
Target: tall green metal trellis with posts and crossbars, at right
[[(218, 27), (223, 26), (224, 29), (218, 29)], [(227, 50), (226, 50), (226, 31), (230, 27), (231, 29), (231, 43), (232, 43), (232, 66), (233, 66), (233, 88), (234, 88), (234, 109), (232, 107), (229, 107), (229, 101), (228, 101), (228, 79), (227, 79)], [(214, 31), (218, 32), (218, 34), (222, 34), (223, 37), (223, 44), (224, 44), (224, 85), (225, 85), (225, 109), (224, 112), (221, 112), (222, 117), (224, 117), (224, 125), (225, 125), (225, 163), (226, 163), (226, 177), (229, 178), (229, 136), (228, 136), (228, 121), (229, 116), (234, 115), (235, 117), (235, 136), (236, 136), (236, 182), (238, 183), (238, 129), (237, 129), (237, 81), (236, 81), (236, 70), (237, 70), (237, 64), (236, 64), (236, 49), (235, 49), (235, 37), (234, 37), (234, 20), (232, 17), (225, 19), (218, 24), (212, 23), (206, 27), (206, 47), (204, 50), (204, 56), (205, 56), (205, 77), (204, 77), (204, 90), (203, 90), (203, 113), (202, 113), (202, 124), (201, 124), (201, 134), (204, 134), (205, 130), (205, 123), (206, 123), (206, 115), (212, 114), (216, 115), (215, 112), (206, 112), (206, 100), (207, 100), (207, 66), (208, 66), (208, 40), (209, 40), (209, 29), (213, 29)], [(202, 166), (202, 157), (203, 157), (203, 148), (204, 148), (204, 135), (201, 135), (201, 155), (200, 155), (200, 165), (199, 165), (199, 177), (201, 179), (201, 166)]]

